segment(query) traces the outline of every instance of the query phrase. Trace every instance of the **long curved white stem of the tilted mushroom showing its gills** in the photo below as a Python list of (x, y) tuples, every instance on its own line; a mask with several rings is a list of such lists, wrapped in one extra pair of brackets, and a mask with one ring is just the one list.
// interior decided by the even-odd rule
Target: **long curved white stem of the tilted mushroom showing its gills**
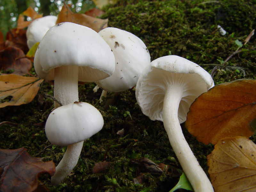
[(178, 118), (183, 90), (171, 84), (164, 96), (163, 122), (171, 146), (195, 192), (213, 192), (212, 184), (184, 138)]

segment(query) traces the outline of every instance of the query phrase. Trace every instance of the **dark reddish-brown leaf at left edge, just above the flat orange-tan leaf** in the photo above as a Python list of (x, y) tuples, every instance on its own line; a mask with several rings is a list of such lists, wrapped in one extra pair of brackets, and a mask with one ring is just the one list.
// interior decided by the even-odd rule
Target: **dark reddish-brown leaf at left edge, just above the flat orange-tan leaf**
[(26, 75), (32, 68), (32, 63), (25, 58), (24, 52), (17, 47), (7, 47), (0, 51), (0, 68), (1, 70), (13, 69), (12, 74)]

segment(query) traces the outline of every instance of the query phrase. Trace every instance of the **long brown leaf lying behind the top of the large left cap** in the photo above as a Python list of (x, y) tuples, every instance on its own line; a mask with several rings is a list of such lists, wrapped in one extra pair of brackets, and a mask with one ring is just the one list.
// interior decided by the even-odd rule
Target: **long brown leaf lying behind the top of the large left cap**
[(85, 14), (73, 13), (67, 4), (64, 4), (56, 23), (71, 22), (92, 28), (94, 31), (99, 32), (101, 29), (108, 27), (108, 19), (94, 18)]

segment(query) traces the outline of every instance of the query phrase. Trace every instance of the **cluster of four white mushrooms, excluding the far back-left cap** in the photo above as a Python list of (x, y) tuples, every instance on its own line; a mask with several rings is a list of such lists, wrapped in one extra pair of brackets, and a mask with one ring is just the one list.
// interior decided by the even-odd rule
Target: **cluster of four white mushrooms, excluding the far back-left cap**
[(57, 185), (76, 166), (84, 140), (103, 127), (100, 112), (78, 101), (78, 81), (96, 82), (105, 92), (136, 85), (136, 99), (151, 120), (160, 120), (172, 148), (196, 192), (213, 192), (211, 182), (186, 142), (180, 123), (192, 102), (210, 89), (212, 77), (197, 64), (175, 55), (150, 63), (146, 45), (117, 28), (99, 33), (75, 23), (51, 27), (37, 48), (34, 65), (39, 77), (54, 80), (55, 110), (45, 124), (48, 140), (68, 146), (51, 182)]

